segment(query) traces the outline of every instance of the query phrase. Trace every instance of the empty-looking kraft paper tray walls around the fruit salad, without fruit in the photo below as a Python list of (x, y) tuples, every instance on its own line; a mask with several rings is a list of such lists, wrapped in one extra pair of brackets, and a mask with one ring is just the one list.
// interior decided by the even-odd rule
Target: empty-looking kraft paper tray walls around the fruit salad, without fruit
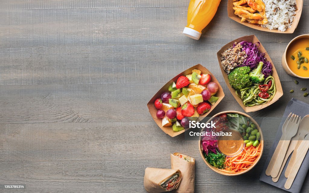
[(182, 131), (179, 131), (179, 132), (175, 132), (173, 131), (172, 129), (172, 126), (169, 126), (169, 127), (162, 127), (162, 119), (158, 119), (157, 118), (157, 109), (155, 108), (155, 100), (157, 98), (160, 98), (161, 97), (161, 94), (163, 92), (169, 92), (168, 91), (168, 87), (173, 83), (173, 82), (177, 82), (177, 79), (179, 76), (186, 76), (188, 74), (192, 74), (192, 70), (193, 69), (198, 69), (202, 72), (202, 74), (210, 74), (211, 75), (211, 81), (212, 82), (215, 82), (218, 84), (218, 92), (216, 93), (216, 95), (214, 96), (217, 96), (219, 97), (218, 101), (214, 104), (214, 105), (211, 105), (211, 109), (210, 111), (208, 111), (207, 113), (203, 114), (203, 115), (200, 115), (199, 117), (199, 120), (201, 120), (203, 117), (206, 117), (219, 103), (220, 101), (223, 99), (224, 97), (224, 92), (223, 92), (223, 89), (221, 87), (221, 85), (219, 84), (218, 80), (214, 77), (214, 75), (209, 71), (207, 70), (207, 68), (205, 68), (204, 66), (202, 66), (201, 64), (197, 64), (191, 68), (188, 68), (187, 70), (185, 70), (184, 72), (181, 72), (180, 74), (178, 74), (177, 76), (175, 76), (174, 78), (172, 78), (170, 81), (168, 81), (156, 94), (155, 96), (153, 96), (150, 101), (148, 102), (147, 104), (147, 107), (149, 109), (149, 112), (152, 116), (152, 118), (154, 119), (154, 121), (157, 123), (157, 125), (164, 131), (164, 133), (168, 134), (169, 136), (171, 137), (175, 137), (181, 133), (184, 133), (185, 130), (187, 129), (184, 129)]

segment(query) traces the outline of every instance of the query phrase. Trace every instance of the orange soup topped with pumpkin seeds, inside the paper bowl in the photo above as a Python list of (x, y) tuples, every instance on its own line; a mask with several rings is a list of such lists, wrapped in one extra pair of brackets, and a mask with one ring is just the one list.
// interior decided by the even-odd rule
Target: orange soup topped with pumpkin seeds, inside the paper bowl
[(300, 38), (290, 44), (286, 62), (296, 75), (309, 77), (309, 38)]

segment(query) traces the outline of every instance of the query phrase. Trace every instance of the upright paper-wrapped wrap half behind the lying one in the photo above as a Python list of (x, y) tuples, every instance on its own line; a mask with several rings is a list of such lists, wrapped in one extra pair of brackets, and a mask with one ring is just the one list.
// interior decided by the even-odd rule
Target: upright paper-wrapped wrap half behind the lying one
[[(178, 157), (178, 155), (186, 156), (189, 161)], [(180, 153), (171, 154), (171, 168), (180, 170), (182, 174), (182, 180), (174, 192), (194, 193), (195, 159)]]

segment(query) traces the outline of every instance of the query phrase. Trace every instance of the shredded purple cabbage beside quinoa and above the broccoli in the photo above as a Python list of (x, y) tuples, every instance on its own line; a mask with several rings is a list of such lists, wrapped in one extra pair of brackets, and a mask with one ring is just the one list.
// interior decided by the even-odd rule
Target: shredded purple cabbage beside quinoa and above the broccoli
[(243, 47), (243, 51), (245, 51), (247, 55), (247, 59), (245, 59), (243, 65), (239, 65), (239, 67), (249, 66), (251, 70), (253, 70), (257, 67), (259, 62), (263, 62), (264, 65), (262, 68), (262, 73), (264, 74), (265, 78), (272, 74), (271, 63), (264, 57), (265, 53), (262, 53), (258, 50), (260, 42), (257, 42), (258, 46), (256, 46), (256, 43), (247, 41), (242, 41), (239, 44)]

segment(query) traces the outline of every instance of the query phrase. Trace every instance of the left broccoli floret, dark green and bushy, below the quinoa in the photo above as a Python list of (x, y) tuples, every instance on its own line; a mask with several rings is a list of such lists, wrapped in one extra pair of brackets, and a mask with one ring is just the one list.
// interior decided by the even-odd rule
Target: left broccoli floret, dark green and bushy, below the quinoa
[(250, 72), (250, 67), (244, 66), (234, 69), (229, 75), (229, 82), (233, 88), (240, 90), (252, 85), (250, 81), (248, 72)]

